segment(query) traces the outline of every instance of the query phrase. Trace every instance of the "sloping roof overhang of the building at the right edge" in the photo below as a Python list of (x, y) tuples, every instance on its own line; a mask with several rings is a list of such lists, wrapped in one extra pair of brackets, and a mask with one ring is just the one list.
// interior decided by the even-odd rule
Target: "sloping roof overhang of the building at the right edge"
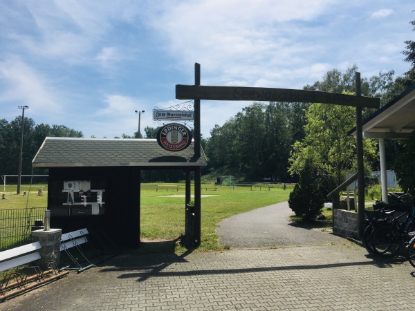
[[(364, 138), (409, 138), (415, 132), (415, 84), (370, 115), (362, 132)], [(356, 128), (348, 134), (356, 138)]]

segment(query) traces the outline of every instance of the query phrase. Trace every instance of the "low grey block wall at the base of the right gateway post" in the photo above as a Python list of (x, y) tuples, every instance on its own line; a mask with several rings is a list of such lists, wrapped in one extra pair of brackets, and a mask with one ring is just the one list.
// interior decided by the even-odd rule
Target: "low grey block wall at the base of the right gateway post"
[(359, 238), (358, 213), (344, 209), (333, 209), (333, 233)]

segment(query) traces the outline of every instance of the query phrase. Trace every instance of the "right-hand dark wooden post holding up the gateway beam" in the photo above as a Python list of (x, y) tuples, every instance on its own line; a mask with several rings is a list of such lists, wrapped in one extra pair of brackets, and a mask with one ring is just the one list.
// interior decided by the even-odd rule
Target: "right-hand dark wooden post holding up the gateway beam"
[[(356, 96), (362, 96), (360, 73), (356, 73)], [(362, 106), (356, 106), (356, 144), (358, 153), (358, 222), (359, 236), (363, 236), (365, 220), (365, 167), (363, 162)]]

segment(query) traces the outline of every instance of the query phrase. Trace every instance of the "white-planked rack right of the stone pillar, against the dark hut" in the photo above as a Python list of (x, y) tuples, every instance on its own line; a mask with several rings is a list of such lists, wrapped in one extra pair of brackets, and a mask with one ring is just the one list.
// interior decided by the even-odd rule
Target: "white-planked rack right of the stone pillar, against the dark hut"
[[(62, 234), (60, 238), (61, 246), (60, 250), (61, 252), (65, 252), (68, 254), (69, 258), (71, 258), (71, 261), (73, 261), (75, 267), (71, 267), (71, 265), (68, 265), (66, 267), (62, 267), (61, 270), (77, 270), (78, 273), (89, 269), (90, 267), (93, 267), (93, 263), (86, 258), (86, 256), (82, 253), (82, 249), (80, 248), (80, 245), (88, 242), (88, 238), (86, 235), (89, 234), (88, 229), (79, 229), (75, 230), (73, 232), (68, 232), (66, 234)], [(77, 249), (77, 252), (80, 253), (80, 255), (84, 258), (84, 260), (89, 263), (85, 267), (82, 267), (80, 261), (77, 259), (79, 256), (74, 256), (72, 254), (71, 248), (75, 247)]]

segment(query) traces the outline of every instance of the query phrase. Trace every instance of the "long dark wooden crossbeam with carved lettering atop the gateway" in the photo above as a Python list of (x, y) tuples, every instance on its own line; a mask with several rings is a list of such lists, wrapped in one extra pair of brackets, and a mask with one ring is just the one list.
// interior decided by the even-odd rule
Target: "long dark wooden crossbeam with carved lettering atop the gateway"
[(194, 86), (176, 84), (177, 100), (246, 100), (263, 102), (310, 102), (379, 108), (380, 98), (286, 88), (244, 86)]

